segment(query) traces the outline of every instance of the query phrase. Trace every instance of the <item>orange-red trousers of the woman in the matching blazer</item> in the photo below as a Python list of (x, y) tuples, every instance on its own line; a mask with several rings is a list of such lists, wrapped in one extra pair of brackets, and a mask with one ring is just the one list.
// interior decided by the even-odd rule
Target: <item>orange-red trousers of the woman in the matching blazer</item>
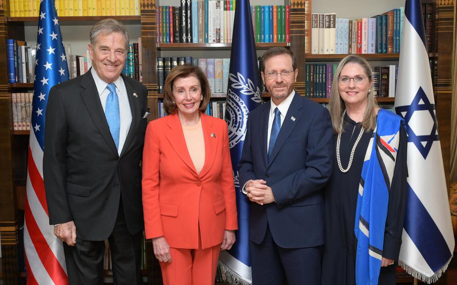
[(171, 263), (159, 262), (164, 285), (214, 285), (220, 243), (201, 249), (170, 247)]

